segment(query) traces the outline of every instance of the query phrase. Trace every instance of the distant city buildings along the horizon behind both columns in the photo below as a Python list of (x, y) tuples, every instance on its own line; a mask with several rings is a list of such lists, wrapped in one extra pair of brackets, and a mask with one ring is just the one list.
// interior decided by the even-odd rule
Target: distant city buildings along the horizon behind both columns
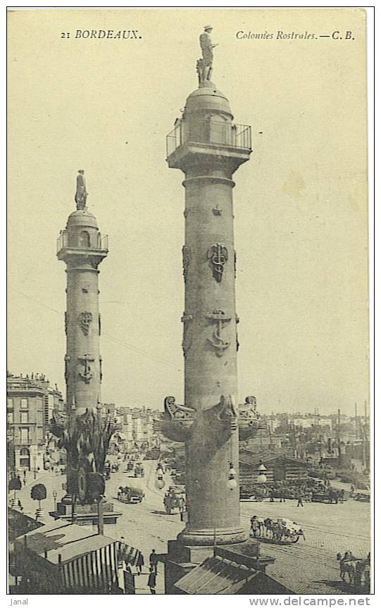
[[(101, 412), (115, 422), (109, 453), (167, 449), (174, 456), (174, 468), (182, 477), (184, 448), (155, 430), (154, 421), (161, 411), (148, 407), (99, 404)], [(261, 460), (274, 457), (297, 459), (308, 465), (349, 469), (368, 473), (370, 469), (370, 427), (367, 404), (354, 404), (354, 415), (339, 410), (332, 414), (288, 412), (261, 413), (261, 428), (249, 440), (239, 443), (241, 480), (248, 469)], [(56, 384), (51, 386), (42, 373), (7, 374), (7, 445), (11, 471), (58, 471), (65, 468), (65, 449), (51, 433), (54, 416), (65, 420), (65, 399)], [(278, 473), (282, 477), (282, 473)], [(276, 477), (276, 475), (275, 475)], [(249, 475), (249, 478), (251, 476)]]

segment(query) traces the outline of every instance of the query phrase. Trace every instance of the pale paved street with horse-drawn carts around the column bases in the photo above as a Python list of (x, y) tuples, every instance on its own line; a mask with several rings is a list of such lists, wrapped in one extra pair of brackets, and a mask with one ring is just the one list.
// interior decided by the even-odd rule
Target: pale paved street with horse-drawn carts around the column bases
[[(120, 472), (112, 473), (106, 481), (106, 497), (115, 504), (115, 510), (122, 513), (115, 525), (105, 526), (105, 534), (120, 540), (124, 538), (144, 554), (142, 576), (135, 576), (137, 593), (149, 593), (147, 566), (152, 549), (157, 553), (166, 552), (167, 541), (176, 538), (184, 524), (180, 514), (165, 514), (163, 497), (170, 476), (165, 476), (165, 488), (155, 488), (156, 461), (144, 461), (144, 477), (134, 478), (131, 473), (123, 472), (125, 462), (120, 462)], [(29, 473), (27, 485), (18, 492), (24, 512), (35, 516), (37, 504), (30, 499), (30, 489), (35, 483), (44, 483), (47, 498), (42, 502), (45, 516), (54, 510), (52, 491), (56, 490), (57, 500), (64, 495), (62, 484), (65, 476), (55, 473), (42, 473), (33, 479)], [(142, 488), (145, 497), (140, 504), (124, 504), (116, 500), (119, 486), (132, 485)], [(262, 539), (261, 554), (275, 557), (275, 564), (268, 566), (267, 573), (274, 576), (286, 587), (292, 585), (295, 593), (353, 593), (349, 585), (343, 584), (339, 577), (339, 562), (336, 555), (350, 550), (356, 557), (365, 558), (370, 551), (370, 505), (346, 500), (344, 504), (305, 503), (296, 507), (296, 500), (280, 502), (241, 502), (241, 520), (244, 529), (249, 531), (250, 518), (277, 519), (284, 517), (301, 524), (306, 535), (299, 542), (276, 545)], [(49, 517), (48, 517), (49, 519)], [(46, 517), (44, 518), (44, 521)], [(157, 593), (163, 593), (163, 564), (158, 564)]]

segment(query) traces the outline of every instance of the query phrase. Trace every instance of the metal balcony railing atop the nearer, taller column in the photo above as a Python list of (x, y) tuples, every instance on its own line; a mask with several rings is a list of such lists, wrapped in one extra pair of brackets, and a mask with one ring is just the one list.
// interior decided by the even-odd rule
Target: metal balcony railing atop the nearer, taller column
[(219, 120), (206, 120), (195, 125), (193, 132), (189, 132), (185, 121), (179, 120), (167, 135), (167, 157), (186, 142), (251, 150), (251, 127)]

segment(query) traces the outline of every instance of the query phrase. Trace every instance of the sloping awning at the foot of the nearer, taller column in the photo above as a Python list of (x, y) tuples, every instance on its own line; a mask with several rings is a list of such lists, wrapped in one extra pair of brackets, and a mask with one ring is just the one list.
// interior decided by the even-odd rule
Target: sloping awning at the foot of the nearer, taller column
[(180, 578), (175, 588), (188, 595), (234, 595), (253, 578), (252, 570), (223, 557), (208, 557), (202, 564)]

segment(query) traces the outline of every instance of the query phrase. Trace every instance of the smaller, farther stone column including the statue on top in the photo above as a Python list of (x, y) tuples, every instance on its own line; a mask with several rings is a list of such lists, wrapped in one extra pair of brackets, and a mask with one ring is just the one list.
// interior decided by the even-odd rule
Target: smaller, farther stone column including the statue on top
[[(108, 238), (101, 237), (95, 216), (87, 209), (83, 171), (77, 175), (75, 202), (57, 243), (57, 257), (66, 264), (65, 383), (68, 420), (52, 421), (51, 430), (67, 452), (67, 495), (54, 516), (68, 519), (68, 507), (77, 518), (96, 521), (96, 504), (104, 495), (104, 461), (115, 428), (101, 413), (102, 361), (99, 352), (99, 264), (108, 254)], [(104, 507), (106, 509), (106, 507)], [(105, 523), (119, 514), (107, 506)]]

